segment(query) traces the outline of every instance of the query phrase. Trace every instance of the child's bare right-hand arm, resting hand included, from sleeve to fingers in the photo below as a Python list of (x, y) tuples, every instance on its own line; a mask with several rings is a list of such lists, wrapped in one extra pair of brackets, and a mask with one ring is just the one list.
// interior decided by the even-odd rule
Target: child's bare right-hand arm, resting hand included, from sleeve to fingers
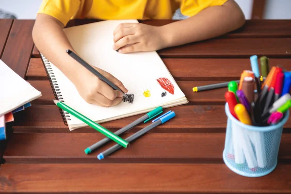
[(240, 28), (244, 15), (234, 0), (208, 7), (195, 16), (162, 27), (121, 24), (114, 31), (113, 49), (119, 52), (151, 51), (213, 38)]

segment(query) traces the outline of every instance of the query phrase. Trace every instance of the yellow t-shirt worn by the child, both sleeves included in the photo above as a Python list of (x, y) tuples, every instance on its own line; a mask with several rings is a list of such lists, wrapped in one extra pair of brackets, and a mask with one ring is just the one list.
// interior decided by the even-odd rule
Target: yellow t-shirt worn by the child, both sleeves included
[(95, 19), (170, 19), (180, 8), (185, 16), (223, 5), (227, 0), (43, 0), (38, 13), (60, 20)]

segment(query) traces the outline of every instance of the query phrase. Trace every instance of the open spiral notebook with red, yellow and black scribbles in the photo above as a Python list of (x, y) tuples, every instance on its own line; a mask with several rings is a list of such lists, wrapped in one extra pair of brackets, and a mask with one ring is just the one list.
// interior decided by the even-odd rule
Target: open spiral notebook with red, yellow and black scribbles
[[(106, 108), (85, 102), (73, 83), (41, 54), (56, 99), (97, 123), (147, 113), (158, 106), (167, 108), (188, 103), (157, 52), (122, 54), (112, 49), (113, 31), (124, 22), (138, 21), (107, 20), (65, 28), (64, 32), (82, 59), (122, 81), (128, 93), (134, 94), (133, 103), (121, 102)], [(70, 130), (86, 126), (69, 113), (61, 111), (61, 114)]]

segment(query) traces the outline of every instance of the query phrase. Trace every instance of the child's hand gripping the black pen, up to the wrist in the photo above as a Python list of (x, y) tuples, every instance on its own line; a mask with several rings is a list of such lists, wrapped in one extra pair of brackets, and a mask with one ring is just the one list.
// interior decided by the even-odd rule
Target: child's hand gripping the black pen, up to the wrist
[[(128, 92), (122, 82), (113, 77), (113, 75), (97, 67), (94, 68), (108, 80), (112, 81), (124, 93)], [(107, 83), (99, 80), (94, 74), (83, 67), (78, 69), (73, 77), (72, 82), (75, 84), (79, 94), (90, 104), (111, 107), (122, 101), (123, 96), (120, 91), (113, 90)]]

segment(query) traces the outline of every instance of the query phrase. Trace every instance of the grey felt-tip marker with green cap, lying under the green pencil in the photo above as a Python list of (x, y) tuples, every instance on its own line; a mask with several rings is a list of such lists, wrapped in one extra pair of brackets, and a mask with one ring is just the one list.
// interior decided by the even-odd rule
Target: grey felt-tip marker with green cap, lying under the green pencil
[[(146, 123), (147, 121), (151, 120), (152, 118), (156, 117), (157, 115), (159, 115), (161, 113), (162, 113), (162, 107), (159, 106), (158, 108), (152, 110), (149, 113), (146, 113), (144, 116), (142, 116), (139, 119), (133, 121), (129, 125), (125, 126), (124, 128), (121, 128), (121, 129), (117, 130), (114, 134), (115, 135), (120, 135), (120, 134), (128, 131), (129, 129), (134, 128), (135, 126), (137, 126), (138, 124), (140, 124), (142, 122)], [(93, 150), (97, 149), (100, 146), (103, 146), (104, 144), (106, 144), (109, 141), (110, 141), (109, 138), (104, 138), (104, 139), (100, 140), (99, 142), (93, 144), (92, 146), (87, 147), (84, 151), (85, 151), (86, 154), (90, 154)]]

